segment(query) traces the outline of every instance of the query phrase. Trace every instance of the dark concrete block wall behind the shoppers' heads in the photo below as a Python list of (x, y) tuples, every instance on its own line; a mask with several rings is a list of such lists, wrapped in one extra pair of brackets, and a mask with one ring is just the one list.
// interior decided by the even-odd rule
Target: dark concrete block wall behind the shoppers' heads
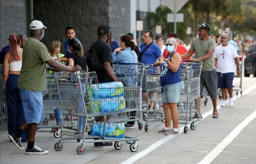
[(33, 0), (34, 19), (47, 27), (41, 42), (48, 48), (52, 41), (60, 41), (62, 53), (69, 25), (75, 27), (85, 51), (97, 40), (101, 24), (109, 24), (114, 40), (120, 42), (120, 36), (127, 33), (125, 8), (125, 0)]

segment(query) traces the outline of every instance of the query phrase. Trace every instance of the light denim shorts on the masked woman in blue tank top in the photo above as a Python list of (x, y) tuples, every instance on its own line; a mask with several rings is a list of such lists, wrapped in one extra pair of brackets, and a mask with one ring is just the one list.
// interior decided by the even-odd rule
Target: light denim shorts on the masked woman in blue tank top
[(184, 82), (165, 85), (163, 87), (163, 103), (178, 103), (180, 94), (184, 89)]

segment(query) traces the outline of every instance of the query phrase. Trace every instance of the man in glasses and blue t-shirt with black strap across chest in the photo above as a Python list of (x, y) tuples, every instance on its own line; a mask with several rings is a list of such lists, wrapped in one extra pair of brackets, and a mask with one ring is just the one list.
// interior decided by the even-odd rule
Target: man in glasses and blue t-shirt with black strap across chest
[[(159, 60), (160, 62), (163, 62), (161, 49), (159, 48), (159, 46), (156, 43), (152, 43), (153, 42), (153, 32), (151, 30), (146, 30), (142, 37), (143, 37), (143, 43), (140, 45), (140, 53), (142, 53), (145, 48), (147, 48), (147, 49), (143, 52), (140, 62), (143, 63), (144, 65), (154, 64), (157, 60)], [(151, 45), (149, 47), (147, 47), (149, 44), (151, 44)], [(146, 78), (143, 78), (142, 84), (143, 84), (142, 85), (142, 98), (147, 102)], [(152, 95), (154, 95), (154, 94), (152, 94)], [(150, 102), (149, 110), (153, 110), (153, 108), (154, 108), (154, 102)]]

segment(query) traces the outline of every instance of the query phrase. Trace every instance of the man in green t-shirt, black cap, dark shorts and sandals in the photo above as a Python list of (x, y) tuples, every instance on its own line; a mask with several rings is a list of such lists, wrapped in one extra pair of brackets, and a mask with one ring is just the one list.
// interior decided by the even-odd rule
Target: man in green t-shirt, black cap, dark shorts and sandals
[(197, 110), (200, 116), (195, 116), (197, 118), (202, 118), (200, 104), (201, 97), (203, 97), (203, 88), (205, 87), (207, 92), (209, 93), (212, 104), (213, 104), (213, 118), (218, 118), (217, 111), (217, 72), (214, 66), (214, 50), (216, 47), (216, 42), (212, 38), (208, 36), (208, 32), (211, 30), (208, 24), (203, 23), (202, 25), (198, 25), (198, 36), (191, 43), (191, 47), (189, 51), (181, 56), (182, 59), (186, 59), (196, 52), (195, 58), (191, 59), (194, 61), (202, 61), (203, 67), (200, 76), (200, 97), (197, 98)]

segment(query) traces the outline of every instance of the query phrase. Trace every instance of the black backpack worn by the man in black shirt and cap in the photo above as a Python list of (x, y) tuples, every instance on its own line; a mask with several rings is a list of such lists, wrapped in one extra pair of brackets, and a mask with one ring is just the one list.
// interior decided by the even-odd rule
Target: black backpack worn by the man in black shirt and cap
[(101, 62), (99, 56), (96, 54), (93, 46), (85, 53), (87, 66), (90, 72), (97, 72), (103, 69), (103, 63)]

